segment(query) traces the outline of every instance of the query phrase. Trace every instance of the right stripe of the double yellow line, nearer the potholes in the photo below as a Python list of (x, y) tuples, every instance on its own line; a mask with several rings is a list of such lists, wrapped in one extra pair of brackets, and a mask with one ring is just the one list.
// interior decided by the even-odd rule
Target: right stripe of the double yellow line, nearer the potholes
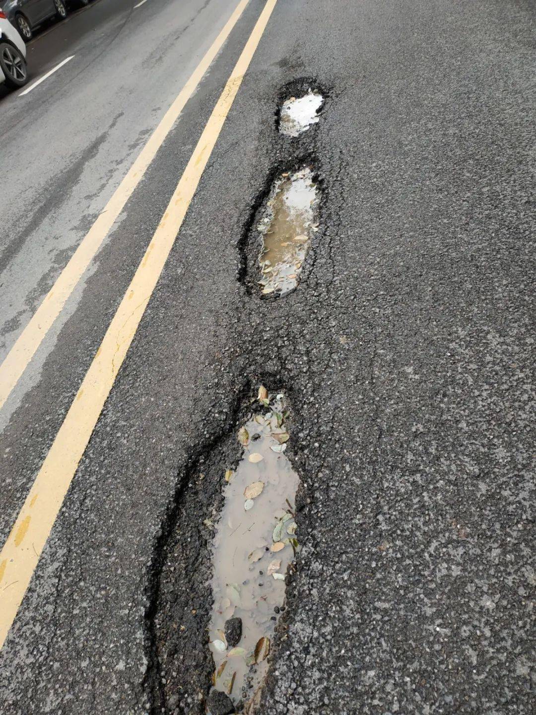
[(276, 2), (267, 0), (2, 548), (0, 648)]

